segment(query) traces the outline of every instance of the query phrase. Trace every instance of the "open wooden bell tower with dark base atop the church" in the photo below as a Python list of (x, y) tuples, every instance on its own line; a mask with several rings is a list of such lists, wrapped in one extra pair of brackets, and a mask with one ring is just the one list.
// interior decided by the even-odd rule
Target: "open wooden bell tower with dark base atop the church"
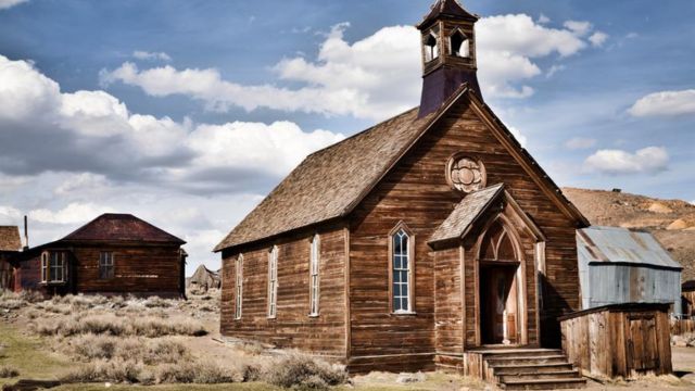
[(482, 99), (476, 61), (478, 18), (457, 0), (438, 0), (417, 25), (422, 38), (420, 117), (437, 111), (465, 83)]

